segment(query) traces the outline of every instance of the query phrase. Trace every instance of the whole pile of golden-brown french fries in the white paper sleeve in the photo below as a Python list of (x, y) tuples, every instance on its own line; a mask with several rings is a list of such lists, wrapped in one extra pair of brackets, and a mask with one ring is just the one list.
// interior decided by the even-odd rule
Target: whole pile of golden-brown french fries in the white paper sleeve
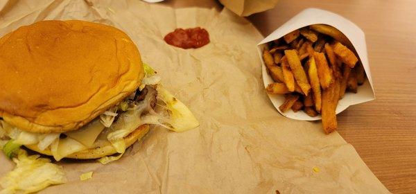
[(349, 39), (332, 26), (316, 24), (266, 46), (263, 61), (275, 80), (266, 92), (284, 94), (281, 112), (302, 109), (309, 116), (321, 114), (324, 132), (336, 130), (338, 101), (346, 91), (357, 92), (365, 81), (363, 65)]

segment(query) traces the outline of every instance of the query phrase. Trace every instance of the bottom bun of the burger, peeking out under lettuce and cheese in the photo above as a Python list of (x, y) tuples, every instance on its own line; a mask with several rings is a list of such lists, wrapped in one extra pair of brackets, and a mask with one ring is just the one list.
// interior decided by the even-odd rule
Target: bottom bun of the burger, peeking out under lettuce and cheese
[[(130, 147), (133, 143), (140, 140), (149, 132), (149, 125), (140, 125), (137, 127), (136, 130), (128, 134), (128, 136), (124, 137), (125, 142), (125, 148)], [(33, 145), (24, 145), (26, 148), (33, 150), (35, 152), (39, 152), (42, 155), (49, 155), (52, 156), (51, 150), (40, 150), (37, 148), (37, 144)], [(104, 147), (98, 147), (98, 148), (89, 148), (88, 150), (83, 150), (80, 152), (75, 152), (65, 158), (70, 159), (98, 159), (101, 157), (106, 157), (110, 155), (114, 155), (116, 153), (116, 150), (112, 145), (106, 145)]]

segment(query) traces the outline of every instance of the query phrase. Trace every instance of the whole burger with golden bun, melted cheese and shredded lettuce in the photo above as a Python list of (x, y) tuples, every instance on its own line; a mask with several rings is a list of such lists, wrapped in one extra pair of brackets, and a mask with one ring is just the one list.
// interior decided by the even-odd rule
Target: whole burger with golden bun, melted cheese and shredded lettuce
[(175, 131), (199, 125), (112, 26), (21, 26), (0, 39), (0, 69), (0, 135), (56, 161), (123, 154), (152, 124)]

